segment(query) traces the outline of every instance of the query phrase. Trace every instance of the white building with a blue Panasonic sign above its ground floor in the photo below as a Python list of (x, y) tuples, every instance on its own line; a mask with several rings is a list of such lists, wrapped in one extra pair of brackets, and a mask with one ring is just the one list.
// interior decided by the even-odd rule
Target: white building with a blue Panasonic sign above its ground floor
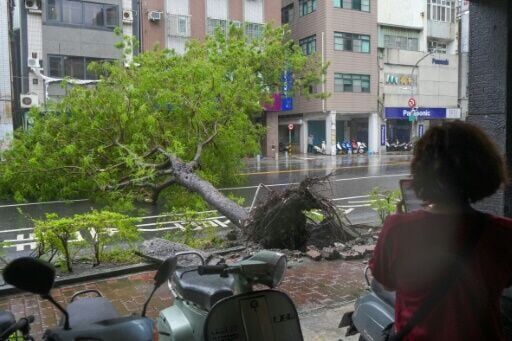
[(461, 118), (456, 1), (380, 0), (380, 144)]

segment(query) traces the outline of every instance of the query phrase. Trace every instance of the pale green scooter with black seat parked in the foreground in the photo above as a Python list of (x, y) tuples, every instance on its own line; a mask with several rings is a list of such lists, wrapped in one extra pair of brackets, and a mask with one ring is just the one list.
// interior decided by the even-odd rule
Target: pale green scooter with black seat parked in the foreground
[(303, 340), (297, 310), (283, 292), (253, 291), (279, 285), (286, 257), (260, 251), (233, 265), (203, 265), (177, 270), (169, 279), (173, 305), (160, 312), (159, 340)]

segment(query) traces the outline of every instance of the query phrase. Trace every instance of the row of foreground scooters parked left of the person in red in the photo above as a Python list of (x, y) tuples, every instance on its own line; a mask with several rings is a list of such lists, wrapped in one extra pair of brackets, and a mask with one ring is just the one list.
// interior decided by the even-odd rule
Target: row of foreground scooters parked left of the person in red
[[(178, 258), (190, 264), (197, 257), (200, 265), (178, 266)], [(8, 284), (51, 302), (62, 313), (58, 326), (44, 332), (43, 340), (303, 340), (297, 310), (292, 300), (274, 290), (286, 270), (286, 257), (278, 252), (259, 251), (232, 265), (206, 265), (195, 251), (171, 255), (161, 263), (154, 277), (154, 288), (140, 314), (120, 316), (111, 302), (97, 290), (77, 292), (67, 308), (50, 291), (55, 269), (41, 260), (23, 257), (13, 260), (3, 271)], [(167, 283), (174, 299), (154, 322), (146, 317), (151, 297)], [(253, 286), (269, 289), (253, 291)], [(95, 296), (95, 297), (91, 297)], [(30, 334), (29, 316), (15, 321), (0, 311), (0, 340)]]

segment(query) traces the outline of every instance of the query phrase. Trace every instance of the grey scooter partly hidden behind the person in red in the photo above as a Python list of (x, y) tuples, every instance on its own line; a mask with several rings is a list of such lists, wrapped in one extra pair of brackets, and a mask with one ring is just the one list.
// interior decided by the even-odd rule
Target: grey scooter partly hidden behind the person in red
[(366, 267), (366, 293), (356, 300), (354, 311), (343, 315), (339, 327), (348, 327), (346, 336), (360, 333), (359, 340), (380, 340), (384, 329), (395, 321), (396, 296), (375, 279), (370, 281), (368, 271)]

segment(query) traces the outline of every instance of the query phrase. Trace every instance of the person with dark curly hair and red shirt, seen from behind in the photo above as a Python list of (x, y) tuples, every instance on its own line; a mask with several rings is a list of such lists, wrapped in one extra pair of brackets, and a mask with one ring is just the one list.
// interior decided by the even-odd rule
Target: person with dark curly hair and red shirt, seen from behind
[(394, 332), (504, 340), (499, 299), (512, 284), (512, 219), (472, 207), (507, 182), (500, 153), (479, 128), (448, 122), (417, 142), (411, 174), (425, 208), (390, 216), (370, 261), (375, 279), (396, 291)]

